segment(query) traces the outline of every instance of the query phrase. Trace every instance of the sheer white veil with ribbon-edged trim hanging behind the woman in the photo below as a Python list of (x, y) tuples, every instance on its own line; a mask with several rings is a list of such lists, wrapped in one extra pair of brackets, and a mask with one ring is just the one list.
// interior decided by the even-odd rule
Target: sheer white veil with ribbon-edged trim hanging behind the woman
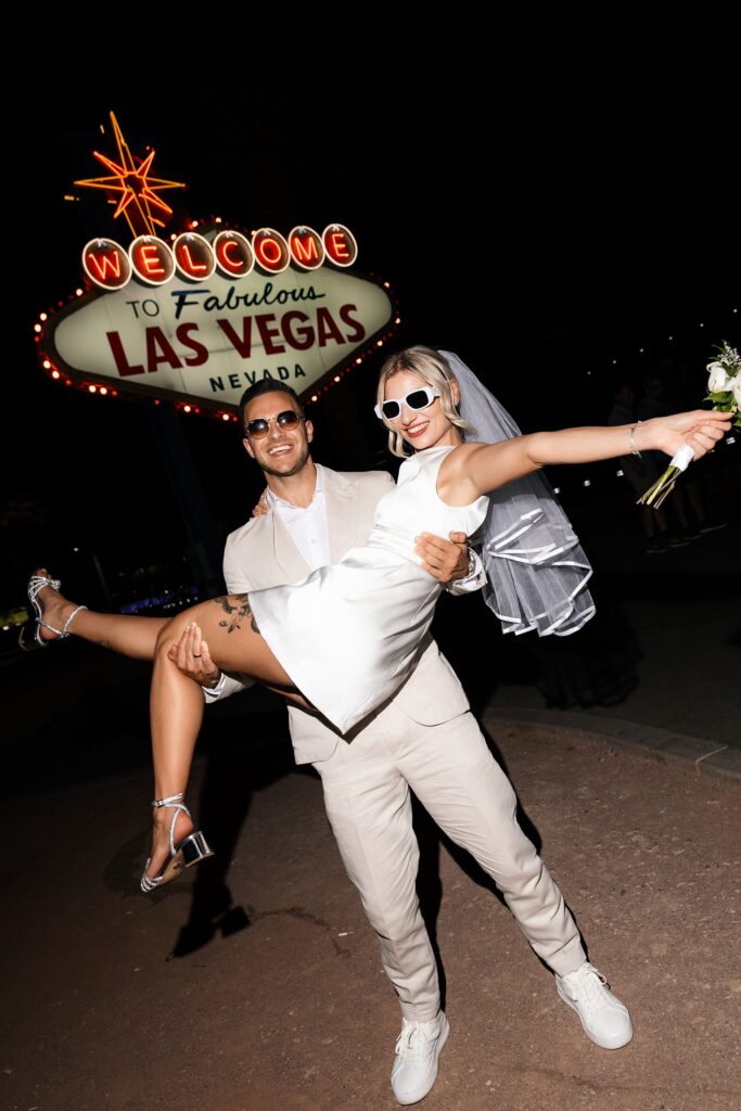
[[(498, 443), (520, 436), (503, 406), (451, 351), (441, 351), (461, 388), (459, 412), (471, 440)], [(569, 637), (594, 615), (587, 589), (592, 568), (541, 472), (489, 494), (489, 509), (471, 543), (487, 572), (483, 595), (504, 632)]]

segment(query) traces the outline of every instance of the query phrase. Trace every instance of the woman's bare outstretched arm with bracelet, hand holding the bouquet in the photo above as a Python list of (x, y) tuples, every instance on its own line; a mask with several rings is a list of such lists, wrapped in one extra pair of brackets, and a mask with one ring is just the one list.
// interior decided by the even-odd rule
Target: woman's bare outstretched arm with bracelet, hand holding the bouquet
[(482, 493), (542, 467), (592, 463), (634, 451), (673, 456), (687, 443), (700, 459), (731, 428), (728, 413), (694, 409), (638, 424), (533, 432), (499, 443), (462, 444), (440, 468), (438, 491), (449, 504), (468, 504)]

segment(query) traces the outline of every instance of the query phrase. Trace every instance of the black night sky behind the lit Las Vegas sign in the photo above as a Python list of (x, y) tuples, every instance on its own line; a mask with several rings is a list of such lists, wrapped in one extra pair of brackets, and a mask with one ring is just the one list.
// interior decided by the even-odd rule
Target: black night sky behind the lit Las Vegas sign
[[(357, 270), (388, 280), (399, 302), (395, 346), (455, 350), (525, 431), (602, 423), (613, 376), (640, 383), (657, 366), (682, 407), (700, 403), (710, 346), (738, 346), (727, 9), (484, 18), (464, 4), (405, 30), (395, 6), (358, 9), (347, 23), (350, 9), (334, 6), (339, 20), (321, 7), (271, 10), (222, 9), (207, 27), (203, 6), (192, 18), (180, 6), (178, 28), (154, 30), (133, 26), (134, 11), (114, 39), (64, 24), (69, 49), (56, 14), (17, 37), (23, 80), (3, 78), (7, 605), (22, 602), (38, 561), (73, 581), (97, 561), (108, 600), (124, 600), (137, 570), (171, 563), (193, 539), (179, 486), (191, 514), (208, 504), (217, 547), (259, 489), (233, 429), (168, 423), (40, 370), (33, 323), (80, 283), (84, 242), (129, 241), (102, 196), (63, 200), (98, 174), (93, 149), (114, 153), (110, 130), (100, 134), (111, 111), (134, 153), (153, 147), (158, 174), (187, 182), (167, 197), (173, 224), (347, 224)], [(388, 464), (369, 408), (375, 369), (314, 407), (318, 460)]]

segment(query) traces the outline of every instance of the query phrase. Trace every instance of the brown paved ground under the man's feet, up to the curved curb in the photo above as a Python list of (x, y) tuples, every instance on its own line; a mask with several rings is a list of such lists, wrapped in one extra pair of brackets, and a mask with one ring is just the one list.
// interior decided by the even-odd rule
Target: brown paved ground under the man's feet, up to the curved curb
[[(425, 1108), (738, 1111), (739, 783), (589, 732), (485, 724), (635, 1037), (618, 1052), (584, 1038), (485, 879), (423, 823), (452, 1028)], [(8, 1111), (395, 1107), (375, 938), (317, 779), (264, 740), (260, 759), (198, 764), (219, 857), (153, 897), (137, 890), (148, 774), (7, 802)], [(172, 958), (189, 921), (206, 943)]]

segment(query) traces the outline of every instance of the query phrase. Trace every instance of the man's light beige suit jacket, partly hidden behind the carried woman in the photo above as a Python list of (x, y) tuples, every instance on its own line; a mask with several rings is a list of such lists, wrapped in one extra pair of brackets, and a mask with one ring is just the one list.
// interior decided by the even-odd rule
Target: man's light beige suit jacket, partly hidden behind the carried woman
[[(375, 506), (393, 487), (393, 479), (385, 471), (340, 472), (327, 467), (322, 471), (330, 558), (337, 562), (350, 548), (366, 541)], [(308, 574), (309, 567), (277, 513), (269, 511), (264, 517), (254, 517), (227, 538), (223, 575), (230, 593), (299, 582)], [(228, 679), (224, 694), (241, 685), (236, 679)], [(393, 702), (424, 725), (450, 721), (469, 710), (460, 680), (429, 635), (420, 645), (413, 672), (397, 691)], [(338, 743), (351, 742), (382, 709), (343, 735), (323, 718), (289, 705), (296, 762), (329, 759)]]

